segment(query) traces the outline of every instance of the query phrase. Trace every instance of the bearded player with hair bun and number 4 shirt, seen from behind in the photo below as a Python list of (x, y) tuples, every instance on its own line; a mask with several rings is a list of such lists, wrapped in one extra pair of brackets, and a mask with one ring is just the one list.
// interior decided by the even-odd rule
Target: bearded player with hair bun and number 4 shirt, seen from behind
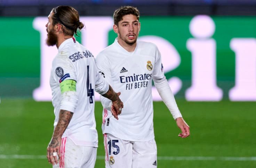
[(46, 27), (47, 45), (58, 48), (50, 74), (55, 121), (47, 159), (53, 167), (93, 168), (98, 147), (94, 91), (110, 99), (116, 118), (123, 107), (120, 92), (98, 74), (94, 56), (73, 37), (84, 27), (77, 10), (53, 8)]

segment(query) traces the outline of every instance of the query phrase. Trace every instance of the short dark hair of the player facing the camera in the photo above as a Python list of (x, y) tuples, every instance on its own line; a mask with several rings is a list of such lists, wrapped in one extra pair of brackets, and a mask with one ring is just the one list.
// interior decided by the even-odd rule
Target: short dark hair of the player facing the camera
[(118, 26), (118, 22), (123, 20), (125, 15), (135, 15), (139, 20), (139, 10), (136, 7), (132, 6), (122, 6), (119, 9), (114, 11), (114, 24)]

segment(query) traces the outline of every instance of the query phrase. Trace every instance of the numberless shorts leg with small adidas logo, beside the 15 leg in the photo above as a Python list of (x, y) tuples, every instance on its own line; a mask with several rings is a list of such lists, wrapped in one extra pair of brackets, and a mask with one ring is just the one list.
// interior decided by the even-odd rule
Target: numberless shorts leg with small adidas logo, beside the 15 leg
[(157, 145), (155, 140), (133, 143), (132, 168), (156, 168)]

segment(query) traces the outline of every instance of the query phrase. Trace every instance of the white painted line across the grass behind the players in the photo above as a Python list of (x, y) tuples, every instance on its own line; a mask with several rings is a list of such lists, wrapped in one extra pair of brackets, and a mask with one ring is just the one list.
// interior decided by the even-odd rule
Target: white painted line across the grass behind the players
[[(0, 159), (46, 159), (46, 155), (5, 155), (0, 154)], [(97, 156), (97, 159), (103, 160), (105, 156)], [(205, 156), (158, 156), (157, 160), (222, 160), (222, 161), (256, 161), (256, 157), (205, 157)]]

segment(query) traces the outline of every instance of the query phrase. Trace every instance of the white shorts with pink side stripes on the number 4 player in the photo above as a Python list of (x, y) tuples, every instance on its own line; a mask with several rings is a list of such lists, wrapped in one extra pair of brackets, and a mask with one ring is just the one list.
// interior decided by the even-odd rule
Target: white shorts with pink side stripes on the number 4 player
[(75, 145), (65, 137), (61, 140), (61, 159), (53, 168), (94, 168), (96, 156), (97, 148)]

